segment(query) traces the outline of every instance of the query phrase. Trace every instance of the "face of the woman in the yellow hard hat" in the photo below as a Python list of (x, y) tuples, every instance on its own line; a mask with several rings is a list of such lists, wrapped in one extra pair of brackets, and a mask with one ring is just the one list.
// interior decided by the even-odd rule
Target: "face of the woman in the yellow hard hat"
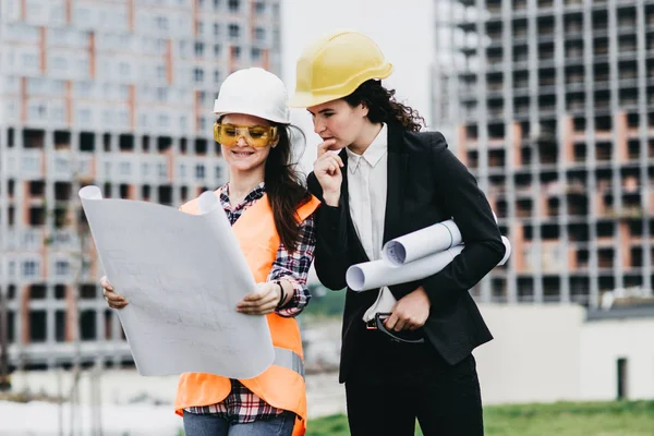
[(366, 123), (368, 110), (363, 105), (351, 107), (343, 99), (327, 101), (307, 108), (314, 122), (314, 132), (323, 141), (336, 140), (332, 150), (344, 148), (359, 138)]

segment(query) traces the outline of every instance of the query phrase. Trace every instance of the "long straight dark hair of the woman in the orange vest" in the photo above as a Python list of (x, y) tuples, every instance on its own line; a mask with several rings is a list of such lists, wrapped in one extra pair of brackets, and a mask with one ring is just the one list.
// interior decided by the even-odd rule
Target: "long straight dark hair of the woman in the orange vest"
[[(291, 126), (271, 123), (277, 126), (279, 143), (270, 148), (266, 159), (266, 193), (272, 208), (275, 227), (281, 243), (289, 253), (295, 252), (300, 238), (298, 207), (311, 199), (311, 194), (301, 182), (296, 162), (291, 149)], [(302, 131), (298, 129), (302, 134)]]

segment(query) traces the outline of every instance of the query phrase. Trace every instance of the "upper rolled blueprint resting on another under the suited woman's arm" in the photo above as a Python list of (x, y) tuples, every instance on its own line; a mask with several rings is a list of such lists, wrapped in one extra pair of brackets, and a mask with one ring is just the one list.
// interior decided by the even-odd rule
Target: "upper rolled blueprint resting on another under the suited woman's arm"
[(448, 219), (388, 241), (382, 249), (382, 258), (393, 265), (403, 265), (451, 249), (461, 242), (459, 227), (455, 220)]

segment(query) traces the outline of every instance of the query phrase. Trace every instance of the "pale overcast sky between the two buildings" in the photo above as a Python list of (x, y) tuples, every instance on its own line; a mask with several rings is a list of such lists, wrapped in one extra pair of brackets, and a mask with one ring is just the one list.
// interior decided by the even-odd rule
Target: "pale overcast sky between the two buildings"
[[(295, 61), (306, 44), (334, 29), (349, 28), (371, 36), (393, 64), (385, 81), (397, 97), (431, 117), (431, 69), (434, 61), (433, 0), (282, 0), (282, 80), (295, 87)], [(302, 159), (308, 172), (319, 137), (305, 110), (293, 109), (293, 123), (306, 133)]]

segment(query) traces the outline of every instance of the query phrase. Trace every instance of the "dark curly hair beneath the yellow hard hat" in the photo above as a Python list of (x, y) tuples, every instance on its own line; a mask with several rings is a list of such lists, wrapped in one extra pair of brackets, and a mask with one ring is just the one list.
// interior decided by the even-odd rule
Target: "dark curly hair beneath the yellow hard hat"
[(425, 119), (417, 110), (395, 99), (395, 89), (386, 89), (382, 82), (370, 80), (362, 83), (352, 94), (343, 97), (351, 107), (363, 104), (368, 109), (367, 118), (373, 123), (400, 123), (405, 130), (420, 132)]

